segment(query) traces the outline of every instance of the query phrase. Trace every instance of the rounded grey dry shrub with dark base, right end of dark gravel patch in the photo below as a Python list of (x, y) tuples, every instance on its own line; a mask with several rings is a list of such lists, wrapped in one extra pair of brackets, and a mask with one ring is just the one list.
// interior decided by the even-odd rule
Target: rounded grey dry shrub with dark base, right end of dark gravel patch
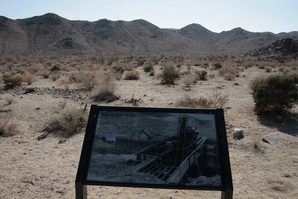
[(116, 84), (114, 83), (103, 82), (92, 91), (93, 95), (91, 98), (95, 102), (104, 101), (105, 103), (109, 103), (115, 101), (119, 99), (119, 96), (115, 95), (116, 88)]

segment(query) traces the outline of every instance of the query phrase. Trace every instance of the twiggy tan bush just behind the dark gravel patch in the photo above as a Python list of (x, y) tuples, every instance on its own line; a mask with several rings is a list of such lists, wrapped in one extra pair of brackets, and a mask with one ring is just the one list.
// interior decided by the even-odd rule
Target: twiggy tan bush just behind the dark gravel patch
[(80, 71), (77, 74), (76, 82), (80, 88), (91, 90), (98, 84), (97, 74), (91, 71)]

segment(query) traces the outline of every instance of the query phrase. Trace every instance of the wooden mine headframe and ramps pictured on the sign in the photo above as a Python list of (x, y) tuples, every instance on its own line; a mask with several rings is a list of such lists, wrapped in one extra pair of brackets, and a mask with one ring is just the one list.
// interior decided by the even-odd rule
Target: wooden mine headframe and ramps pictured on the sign
[(176, 136), (161, 136), (162, 141), (125, 157), (123, 169), (129, 164), (133, 172), (149, 173), (165, 183), (179, 185), (203, 186), (198, 178), (204, 176), (212, 178), (209, 186), (221, 186), (217, 141), (201, 137), (198, 129), (188, 126), (187, 117), (180, 117), (178, 122)]

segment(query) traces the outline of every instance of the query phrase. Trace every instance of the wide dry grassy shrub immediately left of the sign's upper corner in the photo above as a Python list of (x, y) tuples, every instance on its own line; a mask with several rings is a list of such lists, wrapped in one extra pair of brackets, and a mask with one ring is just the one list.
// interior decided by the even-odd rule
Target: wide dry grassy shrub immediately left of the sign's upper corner
[(62, 109), (60, 113), (52, 116), (44, 124), (43, 130), (51, 132), (64, 132), (67, 135), (73, 135), (81, 132), (86, 127), (87, 115), (82, 108), (69, 107)]

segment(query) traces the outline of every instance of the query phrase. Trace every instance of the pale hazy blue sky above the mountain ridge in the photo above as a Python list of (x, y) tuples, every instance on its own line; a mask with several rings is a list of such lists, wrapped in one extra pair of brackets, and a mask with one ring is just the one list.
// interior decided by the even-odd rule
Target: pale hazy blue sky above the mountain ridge
[(144, 19), (159, 28), (200, 24), (212, 32), (241, 27), (250, 32), (298, 31), (298, 0), (0, 0), (11, 19), (55, 13), (69, 20)]

